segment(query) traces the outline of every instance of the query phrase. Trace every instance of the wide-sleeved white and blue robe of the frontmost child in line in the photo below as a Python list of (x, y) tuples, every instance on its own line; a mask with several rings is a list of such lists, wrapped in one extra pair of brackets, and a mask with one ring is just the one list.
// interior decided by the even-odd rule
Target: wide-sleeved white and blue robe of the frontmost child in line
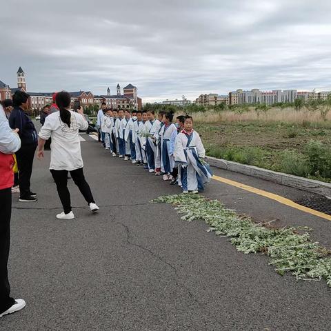
[(179, 185), (183, 191), (203, 191), (203, 184), (212, 178), (208, 165), (201, 163), (205, 157), (205, 148), (198, 132), (191, 134), (181, 131), (174, 144), (174, 161), (179, 163)]

